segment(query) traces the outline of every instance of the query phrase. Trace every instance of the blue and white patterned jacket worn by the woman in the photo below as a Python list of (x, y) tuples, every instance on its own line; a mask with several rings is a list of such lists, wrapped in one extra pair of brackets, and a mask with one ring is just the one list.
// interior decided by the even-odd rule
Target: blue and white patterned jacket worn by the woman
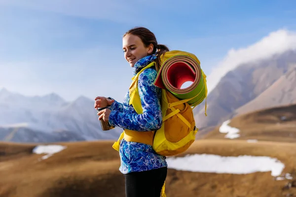
[[(155, 56), (151, 55), (139, 60), (133, 67), (134, 75), (154, 59)], [(137, 114), (134, 107), (129, 105), (128, 91), (123, 103), (114, 101), (111, 104), (109, 123), (112, 126), (139, 132), (155, 131), (161, 127), (161, 89), (153, 85), (156, 75), (157, 72), (153, 68), (147, 68), (139, 75), (138, 89), (143, 114)], [(123, 174), (167, 166), (166, 157), (155, 153), (152, 146), (148, 144), (128, 142), (123, 139), (120, 143), (119, 155), (121, 160), (119, 170)]]

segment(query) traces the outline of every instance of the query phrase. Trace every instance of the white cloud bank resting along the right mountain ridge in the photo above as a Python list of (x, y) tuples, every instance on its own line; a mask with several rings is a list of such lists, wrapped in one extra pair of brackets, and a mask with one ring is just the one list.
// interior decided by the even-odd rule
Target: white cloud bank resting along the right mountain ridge
[(231, 49), (226, 57), (212, 68), (207, 77), (209, 92), (219, 83), (221, 78), (237, 66), (269, 58), (274, 54), (296, 49), (296, 33), (287, 30), (278, 30), (269, 33), (266, 37), (246, 48)]

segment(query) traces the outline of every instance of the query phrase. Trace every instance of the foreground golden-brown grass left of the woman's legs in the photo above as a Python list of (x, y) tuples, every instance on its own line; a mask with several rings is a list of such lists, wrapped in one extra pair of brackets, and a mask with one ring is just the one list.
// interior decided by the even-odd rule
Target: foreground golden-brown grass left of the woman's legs
[(67, 148), (46, 160), (34, 145), (1, 143), (1, 197), (118, 197), (124, 179), (111, 142), (59, 143)]

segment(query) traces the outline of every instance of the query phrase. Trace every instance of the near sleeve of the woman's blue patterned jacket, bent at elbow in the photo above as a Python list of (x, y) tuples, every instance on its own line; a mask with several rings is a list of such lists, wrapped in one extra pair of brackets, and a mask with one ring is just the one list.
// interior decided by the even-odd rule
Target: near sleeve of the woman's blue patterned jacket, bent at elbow
[(138, 89), (143, 108), (142, 114), (111, 111), (109, 123), (133, 131), (155, 131), (162, 124), (160, 107), (161, 89), (153, 85), (157, 72), (148, 68), (139, 75)]

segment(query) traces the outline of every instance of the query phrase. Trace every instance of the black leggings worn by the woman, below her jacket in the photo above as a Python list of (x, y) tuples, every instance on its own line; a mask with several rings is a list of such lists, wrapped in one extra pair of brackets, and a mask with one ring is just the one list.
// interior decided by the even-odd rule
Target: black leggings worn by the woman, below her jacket
[(160, 197), (167, 167), (125, 174), (126, 197)]

